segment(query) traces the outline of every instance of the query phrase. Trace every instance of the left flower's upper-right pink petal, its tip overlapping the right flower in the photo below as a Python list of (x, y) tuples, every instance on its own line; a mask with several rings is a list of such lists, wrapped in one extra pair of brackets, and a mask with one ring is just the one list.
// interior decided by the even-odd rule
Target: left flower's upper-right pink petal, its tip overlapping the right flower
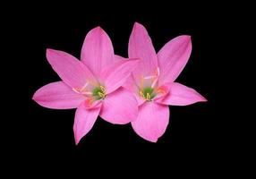
[(119, 88), (136, 68), (138, 59), (126, 59), (107, 67), (103, 72), (107, 94)]

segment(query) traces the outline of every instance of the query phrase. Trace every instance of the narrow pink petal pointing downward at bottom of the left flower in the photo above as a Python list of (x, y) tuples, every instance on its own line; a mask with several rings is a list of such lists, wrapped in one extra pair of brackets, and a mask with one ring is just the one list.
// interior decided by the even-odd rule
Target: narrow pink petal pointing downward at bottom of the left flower
[(74, 117), (73, 132), (75, 143), (78, 144), (83, 136), (85, 136), (93, 124), (96, 122), (100, 107), (87, 109), (84, 103), (77, 108)]

